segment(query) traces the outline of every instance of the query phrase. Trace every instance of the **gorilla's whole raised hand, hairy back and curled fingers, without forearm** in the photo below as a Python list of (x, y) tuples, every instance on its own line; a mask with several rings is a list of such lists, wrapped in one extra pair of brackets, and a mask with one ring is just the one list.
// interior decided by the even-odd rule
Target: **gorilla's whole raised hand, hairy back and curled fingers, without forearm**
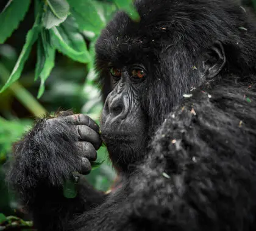
[(100, 146), (99, 127), (88, 116), (62, 112), (41, 119), (14, 145), (9, 181), (19, 191), (61, 186), (74, 172), (90, 173)]

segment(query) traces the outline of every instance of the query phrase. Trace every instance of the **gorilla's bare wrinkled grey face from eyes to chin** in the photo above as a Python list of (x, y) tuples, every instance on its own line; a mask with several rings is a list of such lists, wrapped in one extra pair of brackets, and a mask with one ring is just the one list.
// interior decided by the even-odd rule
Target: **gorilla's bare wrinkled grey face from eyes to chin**
[(146, 70), (136, 64), (112, 67), (109, 74), (114, 87), (102, 111), (101, 136), (114, 166), (128, 171), (129, 164), (144, 156), (148, 143), (146, 115), (140, 105)]

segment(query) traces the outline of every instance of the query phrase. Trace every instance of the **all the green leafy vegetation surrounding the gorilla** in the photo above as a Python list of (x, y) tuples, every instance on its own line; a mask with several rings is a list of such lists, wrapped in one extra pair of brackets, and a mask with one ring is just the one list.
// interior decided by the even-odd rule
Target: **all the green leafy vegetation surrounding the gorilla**
[[(73, 109), (99, 122), (104, 97), (93, 69), (94, 44), (116, 10), (140, 19), (131, 3), (0, 1), (0, 230), (32, 228), (4, 182), (12, 143), (31, 128), (35, 117), (58, 109)], [(256, 0), (247, 0), (246, 4), (256, 7)], [(85, 176), (99, 190), (108, 190), (116, 177), (101, 147), (98, 160), (104, 159), (99, 168)]]

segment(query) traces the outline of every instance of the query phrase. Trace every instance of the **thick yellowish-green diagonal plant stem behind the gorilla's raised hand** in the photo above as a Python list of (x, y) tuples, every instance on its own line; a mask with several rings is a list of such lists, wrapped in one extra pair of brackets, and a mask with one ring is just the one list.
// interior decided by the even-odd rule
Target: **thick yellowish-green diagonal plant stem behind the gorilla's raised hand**
[[(2, 80), (6, 81), (10, 76), (9, 70), (0, 63), (0, 73)], [(37, 99), (25, 89), (18, 81), (13, 83), (10, 86), (10, 90), (13, 92), (13, 95), (27, 108), (34, 116), (41, 117), (46, 114), (46, 109), (41, 106)]]

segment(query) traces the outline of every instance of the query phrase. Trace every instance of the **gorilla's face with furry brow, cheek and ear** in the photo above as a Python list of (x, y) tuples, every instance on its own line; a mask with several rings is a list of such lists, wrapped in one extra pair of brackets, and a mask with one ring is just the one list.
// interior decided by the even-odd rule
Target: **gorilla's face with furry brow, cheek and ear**
[[(146, 5), (140, 10), (140, 15), (151, 12)], [(133, 22), (118, 13), (96, 43), (100, 78), (113, 85), (102, 112), (102, 140), (121, 171), (143, 158), (155, 129), (183, 94), (214, 78), (226, 63), (218, 41), (207, 40), (201, 47), (182, 27), (167, 30), (154, 23), (149, 16)]]

